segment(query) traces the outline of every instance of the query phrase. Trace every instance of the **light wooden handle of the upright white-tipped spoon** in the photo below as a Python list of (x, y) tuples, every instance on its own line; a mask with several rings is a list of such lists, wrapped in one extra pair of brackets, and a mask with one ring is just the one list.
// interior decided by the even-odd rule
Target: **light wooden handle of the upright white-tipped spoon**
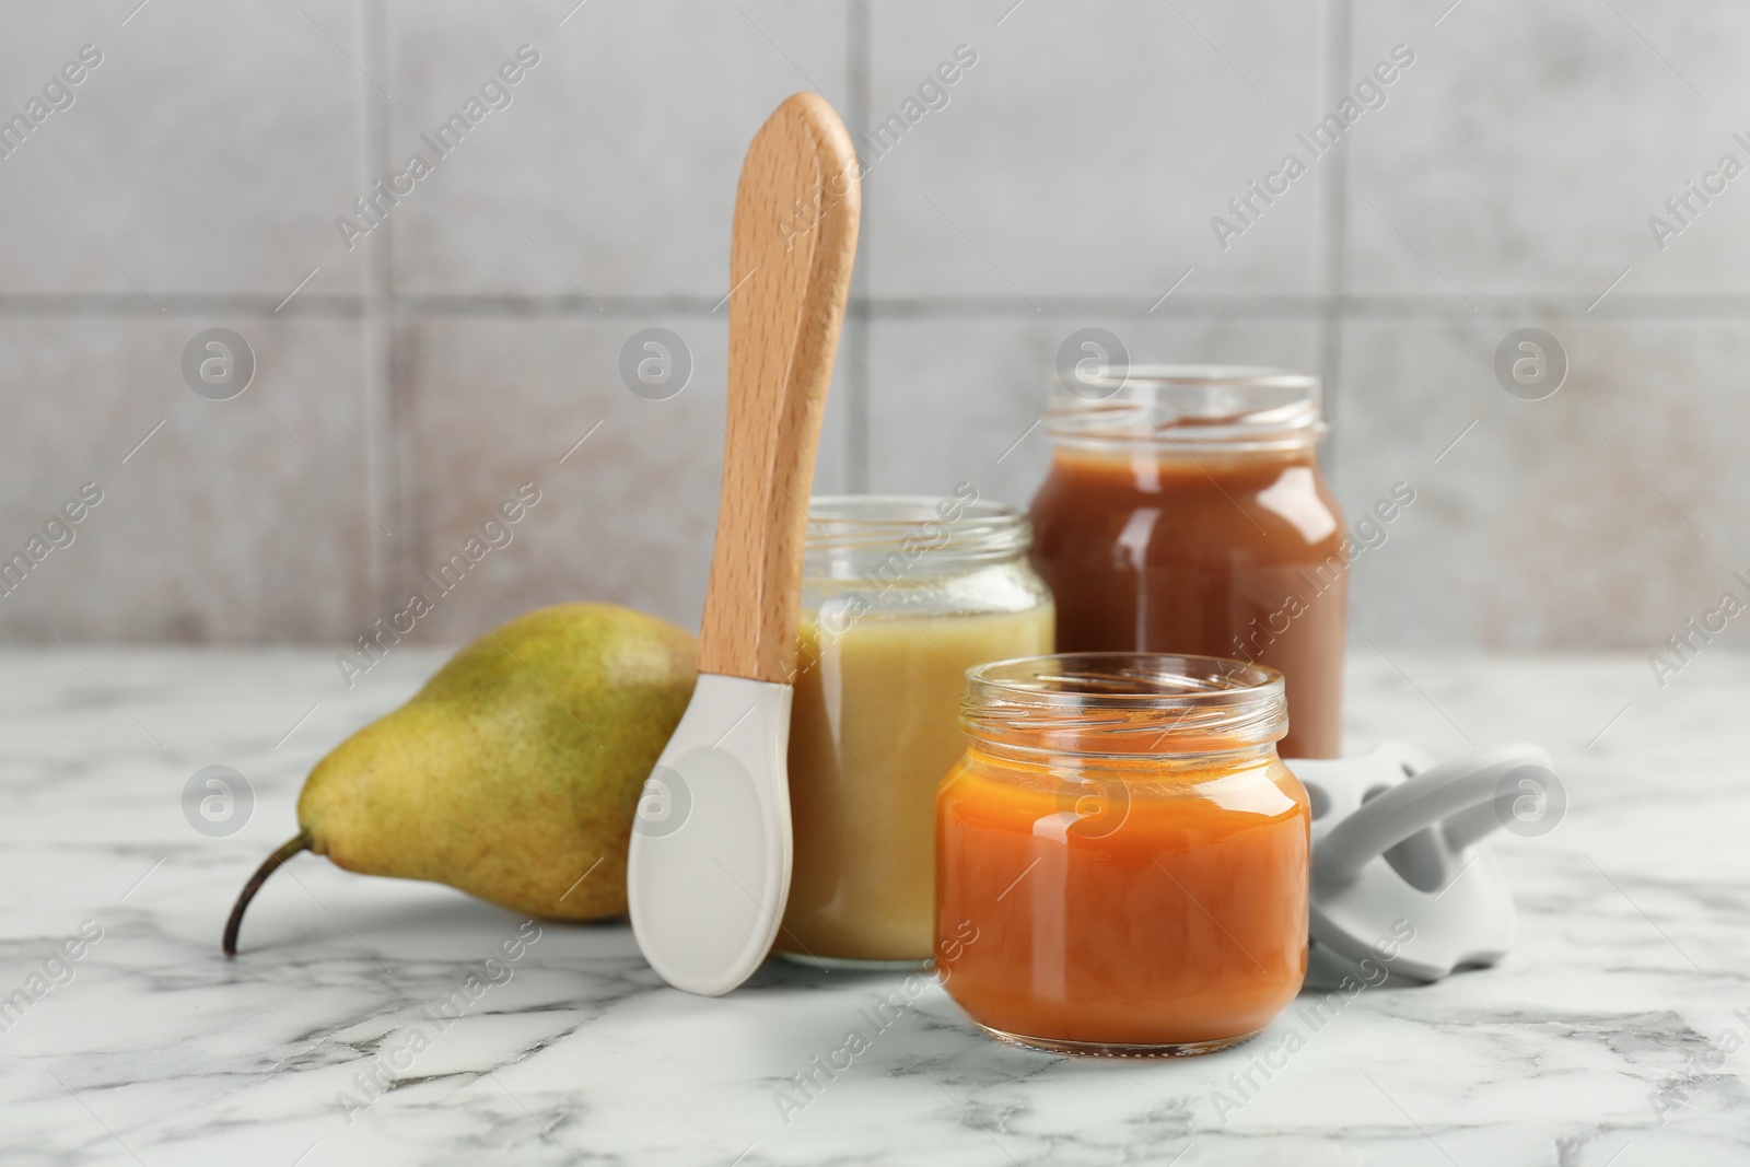
[(700, 672), (788, 684), (826, 385), (858, 247), (856, 150), (821, 96), (754, 135), (730, 245), (730, 422)]

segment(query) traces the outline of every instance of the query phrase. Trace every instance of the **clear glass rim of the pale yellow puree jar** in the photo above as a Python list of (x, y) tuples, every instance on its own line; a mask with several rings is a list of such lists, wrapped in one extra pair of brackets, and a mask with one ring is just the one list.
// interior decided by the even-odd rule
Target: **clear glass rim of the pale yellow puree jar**
[(808, 574), (861, 567), (901, 555), (947, 563), (1012, 560), (1032, 544), (1032, 523), (1017, 507), (954, 495), (816, 495), (808, 500), (803, 560)]

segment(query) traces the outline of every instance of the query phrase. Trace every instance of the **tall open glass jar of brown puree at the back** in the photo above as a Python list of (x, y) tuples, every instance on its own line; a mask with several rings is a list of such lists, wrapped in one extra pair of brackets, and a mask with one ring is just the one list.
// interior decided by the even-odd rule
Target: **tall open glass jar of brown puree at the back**
[(1342, 752), (1348, 569), (1318, 465), (1320, 381), (1132, 367), (1054, 395), (1032, 565), (1057, 651), (1202, 653), (1288, 682), (1288, 758)]

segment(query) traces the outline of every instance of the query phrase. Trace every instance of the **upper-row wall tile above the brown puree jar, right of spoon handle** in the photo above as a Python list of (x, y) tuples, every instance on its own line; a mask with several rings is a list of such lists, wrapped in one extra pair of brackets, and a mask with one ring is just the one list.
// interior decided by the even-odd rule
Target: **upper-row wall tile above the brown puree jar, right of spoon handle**
[[(873, 5), (868, 124), (852, 131), (915, 117), (858, 145), (873, 294), (1150, 303), (1188, 268), (1185, 294), (1318, 290), (1320, 166), (1225, 250), (1211, 219), (1314, 119), (1323, 3), (1004, 9)], [(962, 44), (976, 63), (922, 112), (919, 86)]]

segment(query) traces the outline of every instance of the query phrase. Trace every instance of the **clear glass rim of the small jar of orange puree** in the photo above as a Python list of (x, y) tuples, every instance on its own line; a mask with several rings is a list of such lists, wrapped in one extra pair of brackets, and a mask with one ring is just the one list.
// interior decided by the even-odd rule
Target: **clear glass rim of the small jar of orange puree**
[(962, 721), (1012, 749), (1134, 756), (1248, 749), (1288, 733), (1283, 674), (1176, 653), (1057, 653), (966, 670)]

